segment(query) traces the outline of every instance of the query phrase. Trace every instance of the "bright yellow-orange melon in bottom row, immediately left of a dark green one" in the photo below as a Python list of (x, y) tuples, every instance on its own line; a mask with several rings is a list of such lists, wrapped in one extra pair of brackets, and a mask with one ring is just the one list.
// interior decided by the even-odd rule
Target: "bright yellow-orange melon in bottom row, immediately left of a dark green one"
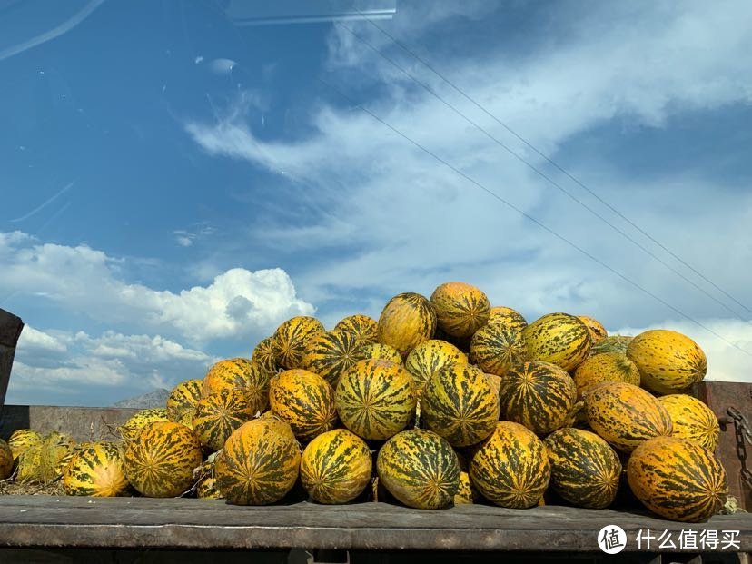
[(313, 439), (302, 452), (301, 481), (312, 500), (347, 503), (371, 481), (371, 450), (357, 435), (335, 429)]

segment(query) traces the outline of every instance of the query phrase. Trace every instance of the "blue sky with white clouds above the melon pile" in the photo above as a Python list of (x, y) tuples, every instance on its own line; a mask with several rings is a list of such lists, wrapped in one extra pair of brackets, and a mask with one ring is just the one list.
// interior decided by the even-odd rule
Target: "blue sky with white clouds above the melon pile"
[(449, 280), (529, 321), (684, 331), (709, 377), (749, 379), (748, 3), (362, 0), (395, 9), (274, 25), (227, 6), (0, 3), (0, 307), (26, 322), (8, 402), (170, 388), (292, 315), (378, 317)]

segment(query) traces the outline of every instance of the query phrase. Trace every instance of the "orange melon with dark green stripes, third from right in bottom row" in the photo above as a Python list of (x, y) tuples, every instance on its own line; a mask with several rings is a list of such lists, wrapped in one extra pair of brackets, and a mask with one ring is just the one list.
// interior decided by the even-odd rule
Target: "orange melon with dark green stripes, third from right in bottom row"
[(512, 421), (499, 421), (470, 460), (470, 480), (480, 495), (512, 509), (538, 505), (550, 474), (543, 441)]

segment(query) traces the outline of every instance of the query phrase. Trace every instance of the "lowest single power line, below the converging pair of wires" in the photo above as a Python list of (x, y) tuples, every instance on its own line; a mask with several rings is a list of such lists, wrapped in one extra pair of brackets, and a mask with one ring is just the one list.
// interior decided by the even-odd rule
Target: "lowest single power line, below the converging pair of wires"
[(363, 104), (358, 104), (357, 102), (355, 102), (348, 94), (345, 94), (344, 92), (342, 92), (342, 90), (340, 88), (338, 88), (337, 86), (335, 86), (334, 84), (330, 84), (330, 83), (326, 82), (321, 77), (319, 77), (317, 80), (320, 83), (322, 83), (325, 86), (327, 86), (328, 88), (331, 88), (331, 90), (333, 90), (337, 94), (340, 94), (342, 98), (344, 98), (345, 100), (347, 100), (350, 104), (352, 104), (356, 108), (360, 109), (365, 114), (371, 115), (371, 117), (373, 119), (375, 119), (380, 124), (382, 124), (382, 125), (388, 127), (389, 129), (391, 129), (391, 131), (393, 133), (400, 135), (401, 138), (404, 139), (405, 141), (407, 141), (407, 142), (415, 145), (416, 147), (418, 147), (419, 149), (421, 149), (422, 152), (427, 153), (428, 155), (430, 155), (431, 157), (433, 157), (435, 160), (439, 161), (441, 164), (443, 164), (444, 166), (446, 166), (447, 168), (449, 168), (454, 173), (460, 174), (460, 176), (462, 178), (464, 178), (468, 182), (472, 183), (473, 185), (477, 186), (483, 192), (488, 193), (491, 197), (495, 198), (496, 200), (500, 201), (504, 205), (508, 206), (510, 209), (512, 209), (515, 212), (519, 213), (520, 215), (524, 216), (525, 218), (527, 218), (532, 223), (535, 223), (536, 225), (538, 225), (544, 231), (550, 233), (551, 235), (553, 235), (554, 237), (556, 237), (560, 241), (566, 242), (570, 247), (572, 247), (573, 249), (575, 249), (575, 250), (581, 252), (582, 254), (584, 254), (585, 256), (587, 256), (591, 261), (597, 262), (603, 268), (605, 268), (605, 269), (609, 270), (610, 272), (616, 274), (623, 281), (628, 282), (629, 284), (631, 284), (632, 286), (634, 286), (635, 288), (637, 288), (639, 291), (648, 294), (648, 296), (650, 296), (651, 298), (653, 298), (657, 302), (663, 304), (664, 306), (668, 307), (673, 312), (677, 312), (679, 315), (681, 315), (682, 317), (686, 318), (689, 322), (693, 322), (698, 327), (700, 327), (701, 329), (704, 329), (705, 331), (709, 332), (710, 334), (715, 335), (718, 339), (720, 339), (721, 341), (724, 341), (725, 343), (727, 343), (727, 345), (729, 345), (731, 347), (734, 347), (735, 349), (737, 349), (739, 351), (744, 352), (748, 356), (752, 356), (752, 353), (750, 353), (748, 351), (745, 351), (744, 349), (742, 349), (737, 344), (735, 344), (735, 343), (733, 343), (731, 341), (727, 341), (727, 339), (725, 339), (723, 336), (719, 335), (716, 331), (713, 331), (712, 329), (710, 329), (709, 327), (705, 326), (701, 322), (698, 322), (696, 319), (694, 319), (693, 317), (689, 316), (687, 313), (682, 312), (676, 306), (673, 306), (670, 303), (666, 302), (665, 300), (663, 300), (662, 298), (660, 298), (655, 293), (650, 292), (649, 290), (643, 288), (642, 286), (640, 286), (638, 284), (638, 282), (634, 282), (634, 281), (630, 280), (626, 275), (622, 274), (621, 272), (618, 272), (616, 269), (614, 269), (613, 267), (611, 267), (606, 262), (601, 261), (598, 257), (596, 257), (593, 254), (587, 252), (585, 249), (583, 249), (582, 247), (580, 247), (577, 243), (569, 241), (569, 239), (567, 239), (564, 235), (561, 235), (561, 234), (555, 232), (553, 229), (551, 229), (545, 223), (540, 222), (538, 219), (536, 219), (535, 217), (533, 217), (529, 213), (524, 212), (523, 210), (521, 210), (519, 207), (517, 207), (513, 203), (510, 203), (508, 200), (502, 198), (498, 193), (493, 192), (492, 190), (490, 190), (489, 188), (487, 188), (486, 186), (484, 186), (483, 184), (481, 184), (480, 182), (478, 182), (477, 180), (475, 180), (474, 178), (472, 178), (469, 174), (463, 173), (459, 168), (457, 168), (456, 166), (450, 164), (448, 161), (442, 159), (438, 154), (433, 153), (432, 151), (430, 151), (430, 149), (427, 149), (421, 143), (418, 143), (417, 141), (414, 141), (413, 139), (411, 139), (411, 137), (409, 137), (408, 135), (403, 134), (396, 127), (394, 127), (393, 125), (387, 123), (386, 121), (384, 121), (383, 119), (381, 119), (381, 117), (379, 117), (378, 115), (376, 115), (373, 112), (371, 112), (371, 110), (369, 110), (366, 106), (364, 106)]

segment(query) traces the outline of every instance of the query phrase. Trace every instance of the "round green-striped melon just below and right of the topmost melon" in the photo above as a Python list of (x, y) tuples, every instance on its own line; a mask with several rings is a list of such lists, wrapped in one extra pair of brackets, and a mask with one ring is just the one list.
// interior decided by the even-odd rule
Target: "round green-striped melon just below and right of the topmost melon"
[(470, 362), (490, 374), (503, 376), (512, 366), (529, 360), (522, 332), (501, 322), (487, 323), (470, 341)]

